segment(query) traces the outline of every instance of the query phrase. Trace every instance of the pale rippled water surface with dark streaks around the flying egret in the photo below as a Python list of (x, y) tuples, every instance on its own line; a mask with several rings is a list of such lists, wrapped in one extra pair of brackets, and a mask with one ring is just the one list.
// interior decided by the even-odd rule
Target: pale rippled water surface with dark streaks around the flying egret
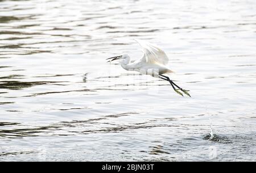
[(255, 39), (256, 1), (0, 1), (0, 161), (256, 161)]

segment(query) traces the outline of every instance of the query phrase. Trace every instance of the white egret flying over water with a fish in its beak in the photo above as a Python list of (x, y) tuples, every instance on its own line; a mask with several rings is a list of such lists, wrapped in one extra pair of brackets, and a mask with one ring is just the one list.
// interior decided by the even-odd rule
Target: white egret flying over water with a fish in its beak
[(107, 58), (108, 62), (119, 60), (120, 65), (125, 70), (138, 71), (142, 74), (151, 75), (152, 77), (161, 78), (168, 82), (170, 82), (174, 91), (177, 94), (183, 96), (180, 92), (184, 92), (184, 94), (189, 95), (189, 90), (184, 90), (183, 88), (177, 86), (169, 77), (163, 75), (165, 73), (173, 73), (166, 65), (168, 64), (168, 57), (166, 53), (156, 45), (148, 43), (147, 41), (138, 40), (136, 41), (143, 48), (143, 56), (141, 59), (136, 61), (130, 61), (130, 56), (127, 54), (122, 54), (121, 56), (115, 56), (111, 58)]

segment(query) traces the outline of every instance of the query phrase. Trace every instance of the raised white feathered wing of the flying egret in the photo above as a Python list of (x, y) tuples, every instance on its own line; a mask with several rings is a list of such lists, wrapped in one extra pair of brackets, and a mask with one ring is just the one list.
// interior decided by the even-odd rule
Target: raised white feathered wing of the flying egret
[(156, 45), (148, 43), (147, 41), (135, 39), (143, 48), (143, 56), (141, 61), (147, 64), (168, 64), (168, 57), (166, 53)]

